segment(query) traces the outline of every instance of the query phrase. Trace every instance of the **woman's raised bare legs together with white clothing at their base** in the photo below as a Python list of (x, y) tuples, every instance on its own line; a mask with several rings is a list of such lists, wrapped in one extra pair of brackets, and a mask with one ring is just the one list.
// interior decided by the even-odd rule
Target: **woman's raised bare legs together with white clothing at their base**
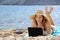
[(52, 28), (52, 32), (55, 30), (55, 24), (52, 20), (52, 17), (50, 16), (51, 12), (53, 11), (53, 7), (50, 8), (50, 11), (48, 11), (48, 7), (46, 7), (46, 17), (49, 19), (50, 26)]

